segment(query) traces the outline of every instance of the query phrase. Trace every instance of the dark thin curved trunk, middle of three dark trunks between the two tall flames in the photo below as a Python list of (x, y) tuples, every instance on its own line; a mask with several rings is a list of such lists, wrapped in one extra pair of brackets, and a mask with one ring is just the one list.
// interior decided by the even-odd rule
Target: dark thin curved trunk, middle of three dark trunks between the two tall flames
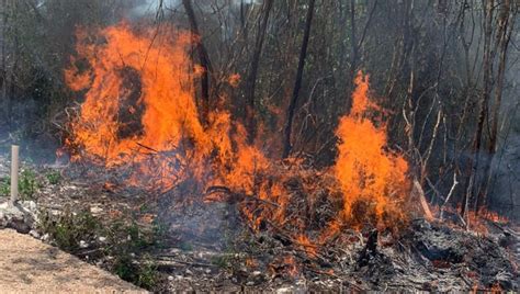
[(257, 41), (255, 43), (255, 52), (252, 55), (251, 69), (249, 71), (249, 76), (246, 81), (246, 84), (247, 84), (246, 118), (247, 118), (247, 126), (248, 126), (249, 144), (252, 144), (255, 142), (255, 138), (257, 135), (256, 134), (257, 118), (255, 114), (255, 89), (257, 86), (257, 76), (258, 76), (258, 66), (260, 64), (260, 55), (262, 54), (262, 46), (263, 46), (263, 41), (265, 38), (269, 13), (271, 12), (272, 4), (273, 4), (273, 0), (265, 0), (263, 2), (263, 16), (260, 19), (260, 23), (258, 25)]

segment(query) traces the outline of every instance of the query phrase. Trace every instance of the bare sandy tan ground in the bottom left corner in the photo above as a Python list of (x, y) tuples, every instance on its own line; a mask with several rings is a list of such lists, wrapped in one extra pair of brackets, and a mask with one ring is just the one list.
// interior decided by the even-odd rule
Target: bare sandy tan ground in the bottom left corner
[(0, 289), (2, 293), (146, 293), (11, 229), (0, 230)]

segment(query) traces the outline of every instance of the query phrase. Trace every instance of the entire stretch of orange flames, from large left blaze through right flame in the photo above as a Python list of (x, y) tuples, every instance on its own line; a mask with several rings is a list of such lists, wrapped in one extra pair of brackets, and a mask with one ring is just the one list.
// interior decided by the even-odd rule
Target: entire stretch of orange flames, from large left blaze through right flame
[[(245, 196), (239, 207), (250, 227), (290, 228), (309, 256), (347, 225), (384, 227), (406, 218), (408, 165), (387, 150), (385, 125), (370, 117), (381, 110), (369, 99), (366, 77), (359, 75), (352, 110), (336, 132), (336, 163), (318, 171), (249, 145), (245, 127), (225, 110), (201, 123), (194, 89), (201, 67), (190, 59), (191, 39), (186, 32), (156, 34), (125, 23), (78, 33), (77, 56), (65, 71), (70, 89), (84, 94), (66, 142), (72, 161), (128, 168), (128, 184), (146, 189), (170, 189), (186, 179), (195, 180), (194, 195), (225, 186)], [(239, 79), (231, 75), (228, 82), (236, 87)], [(223, 199), (212, 194), (205, 201)], [(336, 200), (342, 205), (332, 207), (324, 225), (314, 225), (310, 237), (315, 205)]]

